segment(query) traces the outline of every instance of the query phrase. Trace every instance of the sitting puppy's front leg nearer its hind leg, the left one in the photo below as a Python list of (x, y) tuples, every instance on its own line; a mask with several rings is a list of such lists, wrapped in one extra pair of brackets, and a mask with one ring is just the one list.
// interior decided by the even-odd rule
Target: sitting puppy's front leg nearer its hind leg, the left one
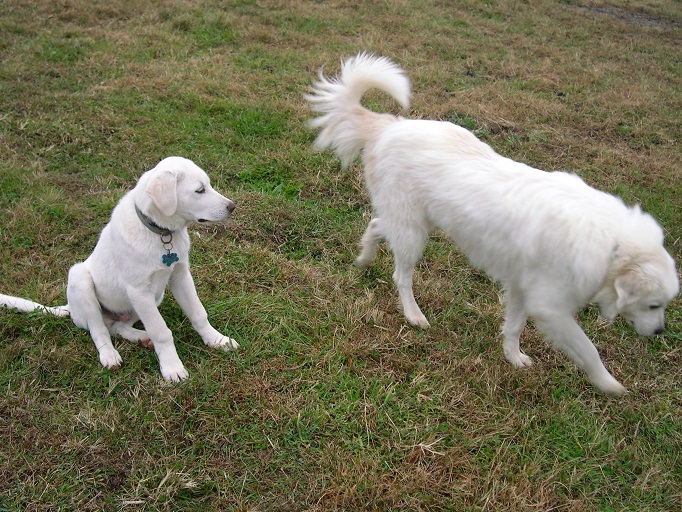
[(128, 290), (128, 298), (154, 344), (163, 378), (179, 382), (189, 377), (189, 373), (175, 350), (173, 333), (156, 307), (154, 295), (148, 289), (136, 288)]

